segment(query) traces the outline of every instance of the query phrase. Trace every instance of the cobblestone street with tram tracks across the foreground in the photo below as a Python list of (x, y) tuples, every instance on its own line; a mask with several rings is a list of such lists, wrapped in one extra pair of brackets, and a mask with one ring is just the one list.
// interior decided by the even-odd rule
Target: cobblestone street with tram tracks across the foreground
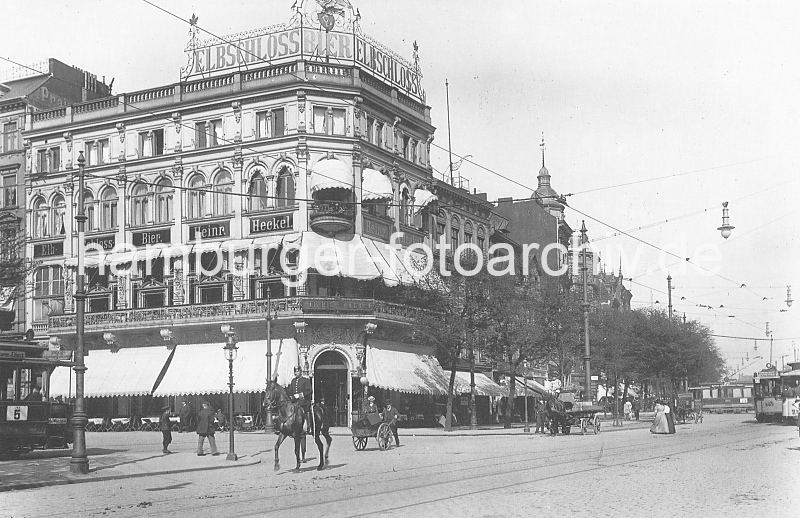
[[(90, 437), (103, 442), (98, 451), (126, 450), (135, 459), (147, 458), (157, 439), (135, 432)], [(314, 451), (300, 473), (291, 471), (290, 443), (281, 448), (281, 470), (273, 471), (273, 439), (263, 434), (237, 436), (250, 465), (200, 469), (230, 463), (224, 455), (196, 457), (194, 438), (176, 434), (179, 453), (170, 462), (199, 470), (12, 490), (0, 493), (3, 515), (795, 516), (800, 504), (797, 429), (756, 424), (752, 414), (710, 415), (703, 424), (679, 425), (673, 436), (645, 427), (558, 437), (406, 432), (402, 446), (387, 452), (372, 439), (356, 452), (349, 437), (336, 436), (330, 466), (317, 472)], [(111, 444), (120, 440), (125, 444)], [(224, 452), (226, 437), (219, 442)], [(53, 461), (32, 457), (3, 461), (0, 475)]]

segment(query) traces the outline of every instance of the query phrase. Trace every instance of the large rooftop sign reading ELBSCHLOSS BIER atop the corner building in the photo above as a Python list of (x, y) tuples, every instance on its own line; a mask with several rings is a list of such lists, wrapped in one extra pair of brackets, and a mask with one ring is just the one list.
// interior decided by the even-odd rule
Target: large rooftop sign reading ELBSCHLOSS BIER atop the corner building
[(425, 103), (422, 78), (413, 65), (360, 34), (326, 32), (311, 27), (249, 34), (253, 35), (212, 40), (208, 45), (187, 49), (189, 64), (181, 70), (182, 78), (207, 78), (218, 72), (252, 70), (254, 66), (280, 64), (302, 57), (325, 64), (355, 64)]

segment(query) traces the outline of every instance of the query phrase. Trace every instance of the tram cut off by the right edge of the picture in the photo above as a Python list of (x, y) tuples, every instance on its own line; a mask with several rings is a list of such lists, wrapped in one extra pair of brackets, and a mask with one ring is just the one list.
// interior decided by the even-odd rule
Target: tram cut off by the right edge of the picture
[(753, 374), (754, 406), (759, 423), (794, 423), (800, 405), (800, 362), (789, 363), (779, 372), (774, 365)]

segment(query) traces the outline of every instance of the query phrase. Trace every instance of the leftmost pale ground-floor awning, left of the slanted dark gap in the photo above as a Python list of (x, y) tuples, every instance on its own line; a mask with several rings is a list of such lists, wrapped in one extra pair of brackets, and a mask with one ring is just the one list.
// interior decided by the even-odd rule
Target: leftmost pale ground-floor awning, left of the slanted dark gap
[[(222, 354), (222, 353), (220, 353)], [(90, 351), (84, 358), (85, 397), (149, 395), (171, 358), (164, 346), (123, 347), (119, 352)], [(75, 374), (57, 367), (50, 376), (50, 397), (74, 397)]]

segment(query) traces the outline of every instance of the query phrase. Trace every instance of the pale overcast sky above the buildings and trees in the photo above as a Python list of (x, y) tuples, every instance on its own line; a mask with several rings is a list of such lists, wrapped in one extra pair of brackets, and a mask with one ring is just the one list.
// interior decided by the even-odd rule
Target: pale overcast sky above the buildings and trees
[[(288, 21), (292, 1), (154, 3), (228, 34)], [(365, 32), (401, 55), (410, 59), (418, 42), (435, 142), (447, 147), (447, 78), (453, 151), (526, 186), (465, 163), (460, 172), (472, 188), (490, 199), (529, 196), (544, 132), (553, 187), (574, 193), (568, 202), (588, 215), (568, 209), (568, 222), (580, 228), (586, 219), (607, 269), (624, 257), (624, 275), (640, 283), (627, 283), (634, 306), (666, 307), (669, 271), (678, 314), (718, 334), (756, 338), (769, 321), (773, 363), (783, 354), (791, 361), (792, 340), (777, 339), (797, 337), (800, 346), (800, 302), (783, 302), (786, 285), (800, 293), (800, 4), (489, 4), (353, 1)], [(4, 0), (0, 30), (0, 56), (55, 57), (113, 77), (115, 92), (176, 82), (186, 62), (187, 24), (141, 0)], [(447, 169), (445, 152), (433, 158)], [(717, 231), (726, 200), (736, 227), (727, 241)], [(639, 226), (647, 228), (632, 230)], [(769, 354), (768, 342), (758, 352), (752, 340), (717, 344), (740, 366), (745, 355), (763, 354), (749, 373)]]

